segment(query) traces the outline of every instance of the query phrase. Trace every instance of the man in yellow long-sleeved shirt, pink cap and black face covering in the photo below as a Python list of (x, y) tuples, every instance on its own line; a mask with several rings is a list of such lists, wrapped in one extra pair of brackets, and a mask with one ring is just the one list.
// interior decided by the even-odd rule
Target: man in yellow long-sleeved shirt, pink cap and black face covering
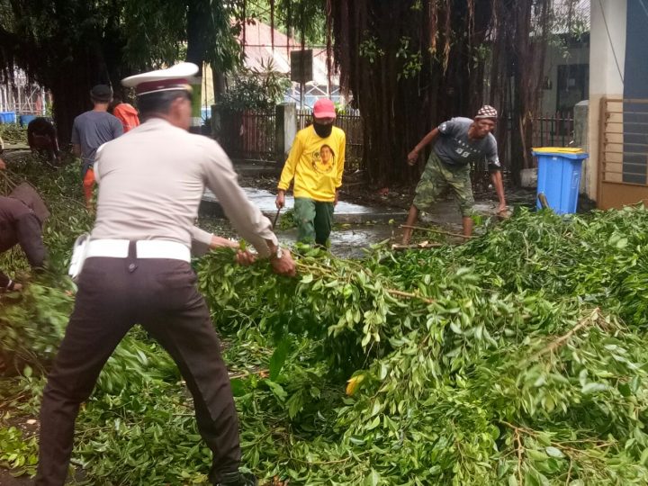
[(276, 206), (285, 204), (285, 192), (294, 179), (297, 238), (326, 246), (333, 226), (345, 162), (345, 132), (333, 123), (335, 106), (321, 98), (313, 107), (313, 123), (297, 132), (279, 180)]

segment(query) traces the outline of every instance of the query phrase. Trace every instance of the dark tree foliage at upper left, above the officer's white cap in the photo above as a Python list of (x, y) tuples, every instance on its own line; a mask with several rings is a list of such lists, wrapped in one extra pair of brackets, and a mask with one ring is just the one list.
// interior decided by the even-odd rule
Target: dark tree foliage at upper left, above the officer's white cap
[(215, 71), (238, 65), (241, 0), (0, 0), (0, 66), (49, 89), (58, 136), (69, 140), (76, 114), (98, 83), (186, 58)]

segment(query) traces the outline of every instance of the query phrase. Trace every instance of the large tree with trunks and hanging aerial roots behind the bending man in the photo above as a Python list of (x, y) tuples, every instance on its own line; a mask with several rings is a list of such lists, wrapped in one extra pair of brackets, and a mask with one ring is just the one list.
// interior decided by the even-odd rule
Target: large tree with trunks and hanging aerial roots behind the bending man
[[(286, 31), (310, 40), (326, 16), (329, 65), (360, 108), (366, 174), (374, 184), (417, 177), (406, 154), (440, 121), (500, 111), (517, 177), (530, 165), (545, 49), (556, 31), (581, 31), (577, 0), (257, 0)], [(554, 11), (559, 9), (558, 11)], [(262, 9), (262, 12), (266, 10)], [(266, 14), (267, 15), (267, 14)], [(320, 25), (321, 27), (321, 25)], [(332, 62), (331, 62), (332, 61)], [(500, 143), (500, 149), (505, 143)]]

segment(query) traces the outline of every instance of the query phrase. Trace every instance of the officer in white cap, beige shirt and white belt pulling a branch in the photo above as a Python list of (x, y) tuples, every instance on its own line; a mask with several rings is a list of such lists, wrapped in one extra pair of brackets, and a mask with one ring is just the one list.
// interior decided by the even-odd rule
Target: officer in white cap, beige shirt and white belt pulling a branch
[[(106, 360), (136, 323), (166, 348), (193, 395), (198, 428), (211, 448), (213, 484), (247, 485), (238, 472), (238, 419), (210, 313), (189, 264), (192, 241), (213, 244), (193, 227), (205, 184), (238, 233), (279, 275), (294, 275), (269, 220), (247, 200), (227, 155), (190, 134), (191, 86), (198, 67), (181, 63), (130, 76), (146, 121), (103, 145), (94, 165), (97, 214), (78, 280), (75, 310), (40, 410), (36, 484), (62, 485), (81, 402)], [(239, 254), (239, 261), (249, 256)]]

